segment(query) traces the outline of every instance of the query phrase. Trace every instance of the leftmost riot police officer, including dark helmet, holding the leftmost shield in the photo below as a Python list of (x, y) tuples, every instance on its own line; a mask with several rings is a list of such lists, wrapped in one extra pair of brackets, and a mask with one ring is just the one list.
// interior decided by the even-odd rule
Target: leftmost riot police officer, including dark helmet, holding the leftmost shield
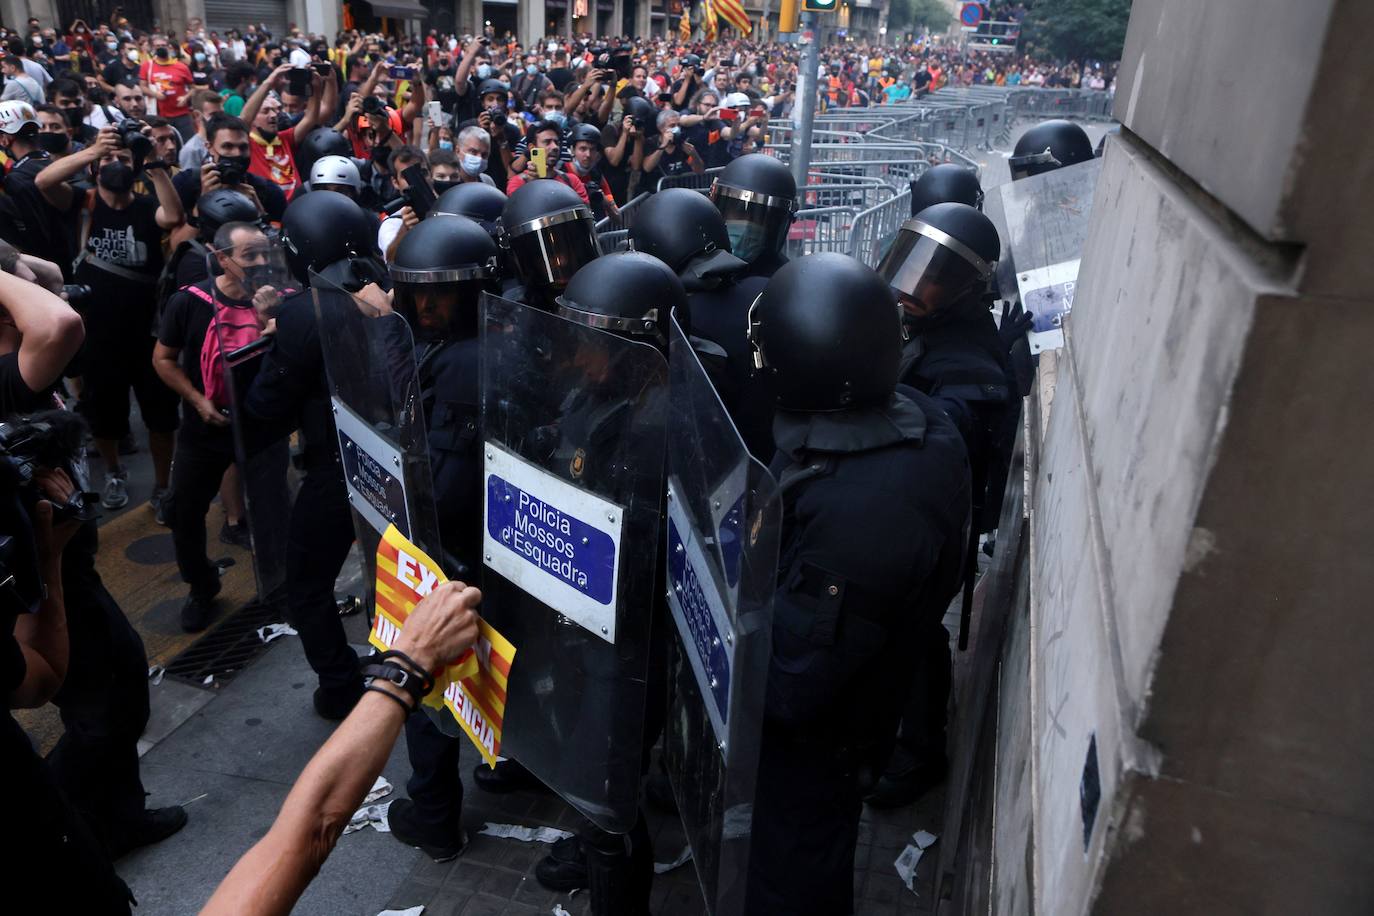
[(348, 715), (363, 681), (334, 604), (334, 581), (353, 544), (353, 529), (315, 304), (305, 287), (311, 272), (349, 290), (385, 280), (374, 227), (367, 211), (333, 191), (300, 196), (286, 209), (282, 240), (300, 288), (282, 299), (272, 347), (243, 398), (258, 435), (271, 439), (301, 431), (302, 478), (286, 541), (287, 614), (320, 678), (315, 711), (328, 720)]

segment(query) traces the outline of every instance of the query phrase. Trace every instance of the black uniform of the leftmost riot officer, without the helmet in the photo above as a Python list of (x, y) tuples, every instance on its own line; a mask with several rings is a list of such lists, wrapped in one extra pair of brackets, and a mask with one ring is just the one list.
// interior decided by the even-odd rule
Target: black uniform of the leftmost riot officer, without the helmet
[[(305, 659), (326, 691), (360, 687), (357, 655), (334, 604), (334, 581), (353, 545), (353, 520), (308, 290), (282, 301), (272, 347), (243, 398), (261, 431), (301, 431), (301, 486), (286, 540), (286, 599)], [(256, 424), (257, 426), (257, 424)]]

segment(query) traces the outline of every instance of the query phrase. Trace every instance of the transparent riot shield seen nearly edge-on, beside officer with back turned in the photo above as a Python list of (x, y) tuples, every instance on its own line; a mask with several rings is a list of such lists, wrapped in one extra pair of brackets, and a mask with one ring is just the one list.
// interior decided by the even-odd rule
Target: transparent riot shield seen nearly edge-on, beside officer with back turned
[(669, 367), (664, 759), (706, 906), (724, 916), (745, 912), (782, 504), (676, 320)]

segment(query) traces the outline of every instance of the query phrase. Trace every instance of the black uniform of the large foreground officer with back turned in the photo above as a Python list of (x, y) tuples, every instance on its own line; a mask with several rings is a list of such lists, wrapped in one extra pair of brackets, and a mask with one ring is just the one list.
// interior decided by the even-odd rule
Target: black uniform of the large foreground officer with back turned
[(958, 592), (969, 512), (954, 423), (882, 408), (778, 412), (783, 500), (749, 862), (752, 913), (852, 912), (863, 792), (882, 772), (911, 644)]

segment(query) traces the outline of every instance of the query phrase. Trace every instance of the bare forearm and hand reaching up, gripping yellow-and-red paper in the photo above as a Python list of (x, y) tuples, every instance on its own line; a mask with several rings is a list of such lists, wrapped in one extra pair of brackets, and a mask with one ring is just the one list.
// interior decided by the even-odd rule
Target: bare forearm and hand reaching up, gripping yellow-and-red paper
[[(420, 600), (396, 648), (426, 670), (477, 640), (481, 592), (445, 582)], [(409, 706), (408, 696), (376, 681)], [(401, 707), (368, 691), (301, 772), (267, 836), (243, 854), (201, 911), (205, 916), (289, 913), (328, 858), (382, 772), (404, 724)]]

